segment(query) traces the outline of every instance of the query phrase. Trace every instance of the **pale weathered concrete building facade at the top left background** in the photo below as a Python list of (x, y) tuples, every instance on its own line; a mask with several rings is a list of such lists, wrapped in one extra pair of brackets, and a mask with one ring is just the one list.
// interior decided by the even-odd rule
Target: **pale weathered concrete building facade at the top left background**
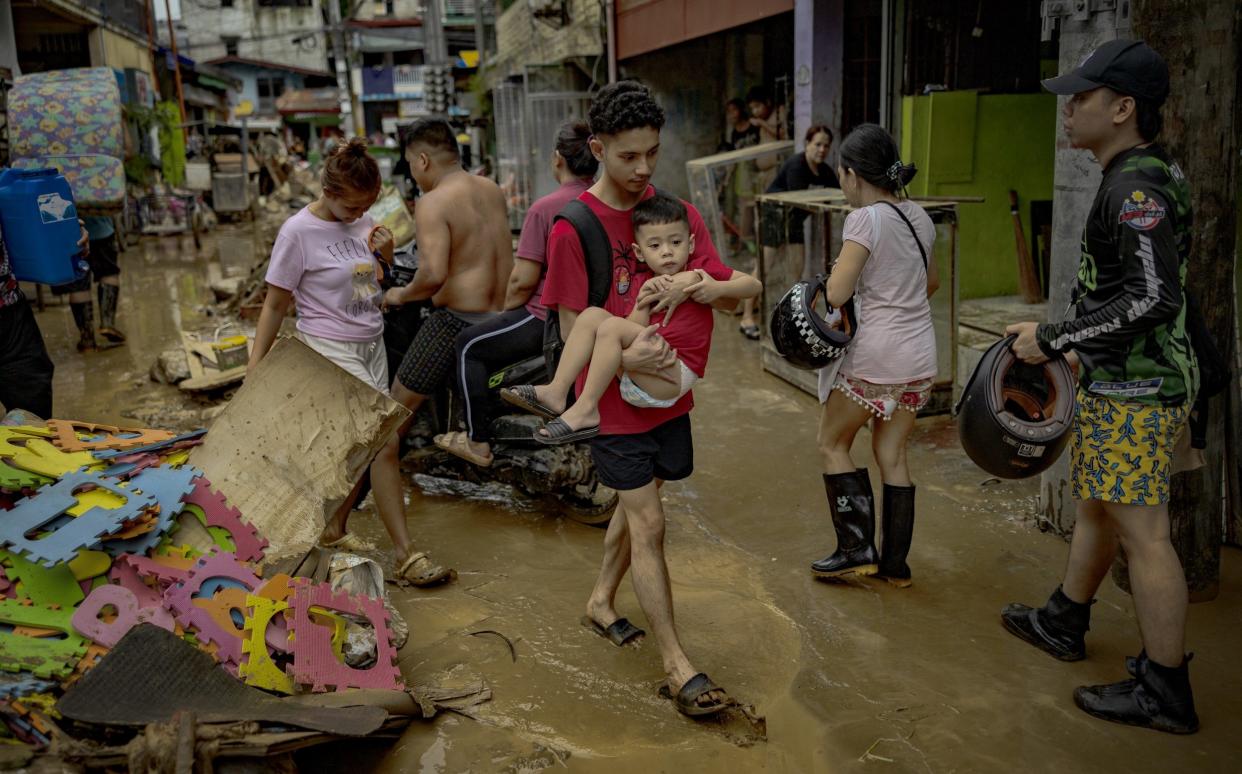
[(320, 0), (312, 0), (308, 7), (267, 7), (256, 0), (235, 0), (233, 7), (219, 7), (219, 4), (205, 7), (184, 2), (181, 25), (191, 46), (185, 55), (197, 61), (225, 56), (222, 39), (237, 36), (242, 39), (237, 45), (237, 56), (242, 58), (328, 72), (328, 43), (323, 34), (303, 43), (293, 42), (299, 31), (323, 26), (320, 4)]

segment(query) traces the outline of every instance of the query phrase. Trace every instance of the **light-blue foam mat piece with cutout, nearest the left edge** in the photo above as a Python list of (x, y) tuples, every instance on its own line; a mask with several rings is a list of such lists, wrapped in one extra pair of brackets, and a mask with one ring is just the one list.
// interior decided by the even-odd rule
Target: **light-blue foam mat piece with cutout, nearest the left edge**
[[(56, 527), (51, 534), (39, 538), (26, 537), (48, 527), (58, 517), (77, 504), (76, 494), (84, 487), (108, 489), (125, 498), (119, 508), (104, 511), (92, 508), (68, 523)], [(31, 562), (45, 567), (66, 563), (77, 555), (82, 548), (93, 548), (99, 538), (118, 532), (125, 521), (137, 518), (143, 511), (155, 504), (155, 498), (135, 491), (123, 489), (116, 481), (102, 476), (76, 472), (67, 473), (56, 483), (48, 485), (37, 494), (27, 497), (5, 514), (0, 521), (0, 543), (10, 552), (21, 553)]]

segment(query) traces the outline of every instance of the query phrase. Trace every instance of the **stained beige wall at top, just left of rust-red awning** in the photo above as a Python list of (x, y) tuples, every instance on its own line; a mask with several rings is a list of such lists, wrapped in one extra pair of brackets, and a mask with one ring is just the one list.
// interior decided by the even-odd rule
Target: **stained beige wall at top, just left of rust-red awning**
[[(554, 29), (530, 15), (527, 2), (514, 2), (496, 22), (497, 55), (488, 65), (488, 80), (522, 72), (523, 65), (556, 65), (573, 57), (594, 57), (604, 52), (599, 0), (570, 0), (570, 22)], [(600, 63), (599, 78), (607, 77)]]

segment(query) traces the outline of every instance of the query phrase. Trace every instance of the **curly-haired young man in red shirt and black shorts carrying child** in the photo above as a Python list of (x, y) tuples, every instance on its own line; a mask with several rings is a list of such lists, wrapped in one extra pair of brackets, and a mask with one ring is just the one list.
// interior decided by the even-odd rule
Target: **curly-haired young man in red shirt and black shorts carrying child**
[[(587, 121), (592, 134), (591, 152), (604, 166), (604, 174), (579, 200), (600, 220), (612, 246), (611, 281), (604, 309), (625, 317), (638, 301), (638, 282), (635, 280), (638, 265), (632, 251), (631, 212), (640, 201), (655, 195), (651, 175), (660, 157), (664, 112), (645, 86), (622, 81), (600, 91)], [(703, 219), (694, 207), (687, 207), (687, 222), (696, 246), (691, 266), (702, 268), (710, 277), (738, 277), (738, 272), (720, 263)], [(653, 282), (666, 286), (660, 292), (661, 299), (652, 307), (653, 313), (672, 312), (692, 297), (700, 303), (712, 303), (725, 299), (727, 292), (733, 298), (745, 294), (738, 288), (727, 291), (728, 283), (702, 276), (661, 276)], [(556, 309), (563, 335), (573, 335), (578, 318), (587, 308), (587, 297), (582, 244), (569, 222), (558, 221), (548, 242), (544, 304)], [(679, 312), (672, 316), (673, 322), (677, 314)], [(703, 355), (705, 360), (705, 350)], [(696, 360), (688, 359), (688, 365), (693, 368), (694, 364)], [(631, 379), (667, 373), (676, 365), (677, 353), (655, 327), (636, 334), (621, 353), (620, 367)], [(616, 590), (632, 562), (638, 604), (655, 630), (667, 675), (667, 686), (661, 693), (673, 698), (684, 714), (713, 714), (728, 707), (730, 701), (707, 675), (691, 666), (678, 641), (668, 567), (664, 564), (664, 512), (658, 492), (662, 482), (686, 478), (694, 468), (688, 416), (693, 406), (692, 395), (682, 395), (667, 409), (640, 409), (622, 399), (620, 381), (612, 379), (616, 369), (606, 373), (609, 384), (599, 401), (600, 429), (591, 441), (591, 456), (600, 480), (619, 491), (620, 503), (604, 540), (604, 565), (586, 604), (586, 619), (616, 645), (631, 644), (643, 634), (617, 615), (614, 608)], [(579, 376), (579, 393), (585, 386), (584, 381), (585, 376)], [(546, 415), (550, 410), (543, 412)]]

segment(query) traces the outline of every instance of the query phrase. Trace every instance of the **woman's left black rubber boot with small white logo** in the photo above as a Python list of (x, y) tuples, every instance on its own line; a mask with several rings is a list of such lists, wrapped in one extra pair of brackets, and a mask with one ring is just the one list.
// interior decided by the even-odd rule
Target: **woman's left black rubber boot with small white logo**
[(876, 497), (866, 471), (825, 473), (823, 491), (828, 496), (837, 550), (811, 564), (816, 578), (874, 575), (879, 557), (876, 552)]

